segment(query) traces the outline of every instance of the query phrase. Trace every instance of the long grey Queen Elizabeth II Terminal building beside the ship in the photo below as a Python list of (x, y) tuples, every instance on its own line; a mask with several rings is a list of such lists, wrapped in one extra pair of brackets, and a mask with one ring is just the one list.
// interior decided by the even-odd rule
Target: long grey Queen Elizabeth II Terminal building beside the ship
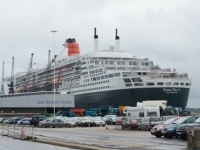
[(31, 92), (0, 96), (0, 116), (54, 113), (74, 108), (74, 95), (60, 92)]

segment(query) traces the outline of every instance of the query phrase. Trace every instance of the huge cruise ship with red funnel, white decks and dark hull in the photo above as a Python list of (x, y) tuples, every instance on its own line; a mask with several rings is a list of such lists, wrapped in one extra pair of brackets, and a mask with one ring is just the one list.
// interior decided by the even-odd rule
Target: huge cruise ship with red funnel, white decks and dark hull
[(45, 68), (33, 64), (28, 72), (15, 76), (14, 92), (74, 94), (75, 108), (136, 106), (145, 100), (167, 100), (168, 105), (186, 108), (191, 87), (187, 73), (162, 69), (148, 58), (122, 51), (117, 29), (115, 44), (102, 50), (98, 44), (96, 28), (94, 50), (87, 54), (80, 54), (74, 38), (66, 39), (64, 49)]

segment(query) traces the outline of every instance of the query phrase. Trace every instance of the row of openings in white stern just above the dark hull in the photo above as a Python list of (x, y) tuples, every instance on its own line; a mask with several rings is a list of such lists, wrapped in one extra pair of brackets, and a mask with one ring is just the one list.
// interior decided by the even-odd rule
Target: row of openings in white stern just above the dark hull
[[(143, 86), (144, 83), (134, 83), (134, 86)], [(154, 82), (149, 82), (149, 83), (146, 83), (147, 86), (154, 86), (155, 83)], [(163, 82), (158, 82), (157, 85), (164, 85)], [(166, 82), (166, 85), (170, 86), (172, 85), (171, 82)], [(179, 85), (178, 82), (174, 82), (173, 85)], [(180, 83), (181, 86), (190, 86), (190, 83)], [(126, 83), (126, 86), (129, 87), (129, 86), (132, 86), (132, 83)]]

